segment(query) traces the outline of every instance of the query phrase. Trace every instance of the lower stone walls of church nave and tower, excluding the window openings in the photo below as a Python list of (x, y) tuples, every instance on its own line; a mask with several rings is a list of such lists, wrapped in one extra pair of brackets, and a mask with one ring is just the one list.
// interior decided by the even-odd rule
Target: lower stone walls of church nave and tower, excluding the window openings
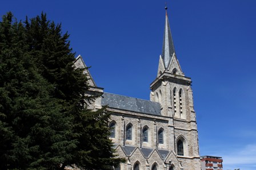
[[(118, 110), (109, 108), (112, 112), (111, 121), (116, 123), (115, 138), (111, 138), (117, 145), (117, 154), (120, 157), (125, 157), (127, 163), (121, 164), (121, 169), (133, 169), (135, 164), (139, 164), (140, 169), (151, 169), (153, 165), (157, 165), (158, 169), (169, 169), (170, 166), (176, 169), (200, 169), (198, 147), (196, 140), (197, 131), (191, 132), (189, 122), (181, 119), (173, 119), (162, 115), (151, 115), (135, 113), (132, 111)], [(110, 122), (111, 122), (110, 121)], [(171, 123), (170, 123), (171, 121)], [(171, 125), (173, 123), (173, 125)], [(133, 125), (133, 138), (126, 140), (125, 131), (127, 125)], [(149, 141), (142, 142), (143, 127), (149, 128)], [(176, 128), (176, 126), (178, 128)], [(164, 143), (158, 144), (158, 130), (164, 130)], [(193, 130), (192, 130), (193, 131)], [(184, 156), (177, 156), (176, 143), (177, 139), (184, 138)], [(134, 150), (130, 155), (125, 153), (125, 147), (133, 147)], [(143, 155), (141, 148), (150, 149), (148, 156)], [(167, 151), (167, 155), (161, 157), (159, 150)], [(190, 167), (190, 168), (189, 168)]]

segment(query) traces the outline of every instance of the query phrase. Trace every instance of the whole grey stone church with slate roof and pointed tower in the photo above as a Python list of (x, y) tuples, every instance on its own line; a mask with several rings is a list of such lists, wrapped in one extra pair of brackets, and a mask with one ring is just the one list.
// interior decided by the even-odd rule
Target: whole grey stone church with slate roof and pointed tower
[[(86, 67), (81, 56), (75, 66)], [(127, 160), (114, 169), (201, 169), (191, 78), (182, 72), (175, 55), (167, 7), (162, 55), (157, 78), (150, 84), (150, 101), (106, 93), (96, 86), (89, 71), (85, 73), (90, 78), (88, 94), (101, 95), (91, 108), (109, 106), (110, 138), (117, 154)]]

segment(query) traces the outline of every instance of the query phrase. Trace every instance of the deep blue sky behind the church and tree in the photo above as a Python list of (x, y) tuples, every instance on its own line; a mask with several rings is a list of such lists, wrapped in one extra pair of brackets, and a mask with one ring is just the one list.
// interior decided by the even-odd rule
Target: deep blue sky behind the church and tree
[[(256, 169), (256, 1), (167, 0), (175, 51), (193, 81), (200, 155), (223, 169)], [(165, 1), (2, 1), (0, 15), (47, 13), (70, 34), (105, 92), (149, 99)]]

